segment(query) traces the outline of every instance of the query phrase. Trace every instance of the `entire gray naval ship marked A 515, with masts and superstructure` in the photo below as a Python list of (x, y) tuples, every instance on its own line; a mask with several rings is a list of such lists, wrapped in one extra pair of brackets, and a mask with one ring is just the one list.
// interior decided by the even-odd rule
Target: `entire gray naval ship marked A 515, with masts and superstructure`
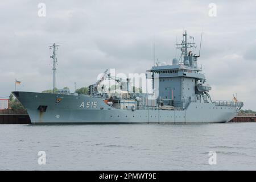
[[(120, 78), (111, 76), (108, 69), (89, 86), (88, 95), (59, 90), (54, 93), (13, 92), (26, 108), (31, 123), (221, 123), (234, 118), (243, 106), (236, 97), (232, 101), (212, 101), (205, 76), (200, 73), (197, 59), (188, 41), (187, 32), (177, 43), (180, 59), (172, 65), (154, 63), (147, 71), (154, 93), (134, 93), (123, 86), (121, 93), (100, 92), (102, 81), (113, 78), (121, 86)], [(53, 88), (55, 88), (55, 44), (53, 44)], [(201, 43), (200, 43), (201, 48)], [(158, 80), (158, 81), (156, 81)], [(125, 88), (126, 87), (126, 88)], [(124, 92), (124, 90), (126, 92)], [(134, 90), (132, 90), (134, 91)], [(156, 94), (157, 93), (157, 94)], [(154, 97), (152, 96), (154, 94)]]

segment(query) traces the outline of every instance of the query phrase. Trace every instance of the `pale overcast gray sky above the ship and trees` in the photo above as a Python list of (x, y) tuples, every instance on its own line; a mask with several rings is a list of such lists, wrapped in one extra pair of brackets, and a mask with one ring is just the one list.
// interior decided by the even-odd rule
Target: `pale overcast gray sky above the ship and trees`
[[(46, 16), (39, 16), (45, 3)], [(209, 3), (217, 5), (209, 16)], [(60, 44), (58, 88), (73, 92), (96, 81), (106, 68), (143, 73), (155, 57), (167, 64), (179, 55), (183, 29), (198, 47), (199, 65), (212, 86), (213, 100), (243, 101), (256, 110), (256, 1), (0, 1), (0, 97), (14, 90), (52, 88), (48, 46)], [(199, 48), (195, 50), (198, 52)]]

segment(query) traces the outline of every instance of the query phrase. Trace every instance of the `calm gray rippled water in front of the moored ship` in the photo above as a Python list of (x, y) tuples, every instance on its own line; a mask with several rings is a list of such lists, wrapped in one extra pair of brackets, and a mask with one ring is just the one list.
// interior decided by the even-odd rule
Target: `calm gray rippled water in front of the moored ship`
[(256, 169), (256, 123), (0, 125), (0, 135), (1, 170)]

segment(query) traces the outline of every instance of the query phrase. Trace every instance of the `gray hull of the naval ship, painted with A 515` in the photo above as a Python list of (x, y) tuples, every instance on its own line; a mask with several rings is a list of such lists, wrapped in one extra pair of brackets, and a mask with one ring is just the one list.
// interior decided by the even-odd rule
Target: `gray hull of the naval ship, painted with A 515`
[(101, 98), (13, 92), (31, 123), (222, 123), (234, 118), (235, 106), (191, 102), (184, 110), (114, 109)]

